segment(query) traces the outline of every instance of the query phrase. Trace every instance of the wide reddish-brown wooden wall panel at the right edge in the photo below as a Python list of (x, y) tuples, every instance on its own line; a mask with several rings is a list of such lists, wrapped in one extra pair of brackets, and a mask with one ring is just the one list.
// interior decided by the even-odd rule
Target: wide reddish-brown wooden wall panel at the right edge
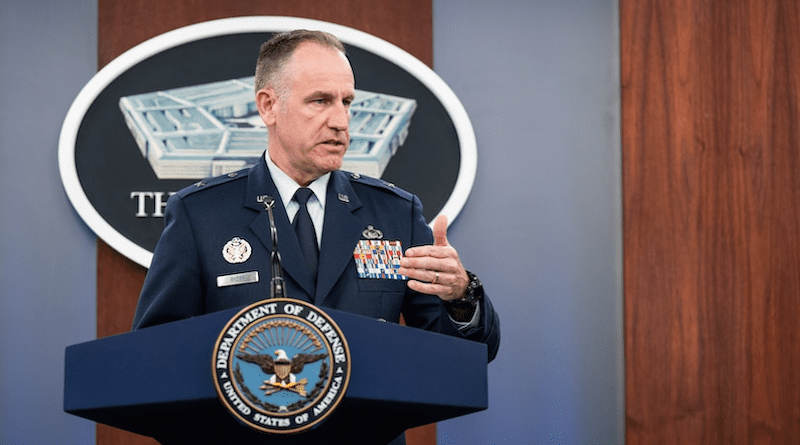
[(800, 443), (800, 2), (620, 25), (627, 443)]

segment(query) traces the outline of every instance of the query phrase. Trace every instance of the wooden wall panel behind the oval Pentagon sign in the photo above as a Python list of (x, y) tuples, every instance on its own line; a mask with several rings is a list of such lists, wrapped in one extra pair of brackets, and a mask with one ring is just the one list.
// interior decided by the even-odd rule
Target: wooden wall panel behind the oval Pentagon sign
[[(99, 0), (98, 68), (124, 51), (175, 28), (226, 17), (272, 15), (305, 17), (359, 29), (433, 63), (433, 7), (431, 0)], [(253, 54), (255, 66), (257, 54)], [(98, 240), (97, 335), (130, 330), (146, 269)], [(409, 445), (436, 443), (436, 426), (410, 430)], [(154, 444), (105, 425), (97, 428), (103, 445)]]

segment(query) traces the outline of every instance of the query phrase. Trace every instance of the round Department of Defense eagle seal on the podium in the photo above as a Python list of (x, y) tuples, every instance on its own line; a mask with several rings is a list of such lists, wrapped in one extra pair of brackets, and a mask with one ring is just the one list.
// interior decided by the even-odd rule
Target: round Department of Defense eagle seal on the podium
[(326, 419), (350, 382), (350, 350), (319, 308), (275, 298), (239, 311), (214, 346), (223, 405), (256, 430), (297, 433)]

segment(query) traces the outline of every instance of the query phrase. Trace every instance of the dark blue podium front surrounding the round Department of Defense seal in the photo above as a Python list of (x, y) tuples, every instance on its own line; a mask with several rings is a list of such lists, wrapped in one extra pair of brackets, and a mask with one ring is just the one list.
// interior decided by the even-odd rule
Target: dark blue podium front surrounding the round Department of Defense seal
[(307, 431), (252, 429), (222, 405), (211, 369), (215, 341), (239, 309), (67, 347), (64, 411), (163, 444), (385, 444), (488, 406), (486, 345), (324, 309), (350, 347), (344, 399)]

